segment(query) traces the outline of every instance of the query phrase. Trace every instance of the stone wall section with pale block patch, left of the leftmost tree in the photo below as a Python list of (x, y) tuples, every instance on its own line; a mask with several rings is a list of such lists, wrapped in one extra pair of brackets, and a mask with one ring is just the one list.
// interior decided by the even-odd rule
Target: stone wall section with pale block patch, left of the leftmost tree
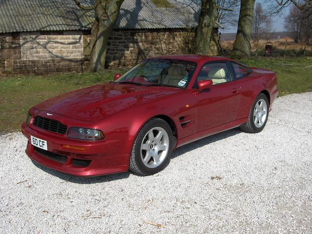
[(2, 34), (0, 39), (2, 73), (83, 71), (82, 31), (22, 32)]

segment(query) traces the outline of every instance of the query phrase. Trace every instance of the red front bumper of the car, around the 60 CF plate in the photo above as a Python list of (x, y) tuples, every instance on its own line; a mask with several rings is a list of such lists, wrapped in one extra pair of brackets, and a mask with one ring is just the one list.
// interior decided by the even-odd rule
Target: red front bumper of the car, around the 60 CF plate
[[(27, 156), (50, 169), (73, 176), (86, 177), (128, 171), (129, 155), (112, 155), (110, 153), (110, 148), (113, 147), (113, 144), (110, 144), (108, 141), (86, 142), (58, 138), (36, 131), (27, 126), (26, 123), (22, 124), (22, 134), (28, 139), (27, 148), (25, 150)], [(38, 150), (38, 148), (31, 145), (30, 135), (46, 140), (48, 152)], [(86, 150), (75, 151), (63, 149), (61, 145), (64, 144), (85, 147)], [(62, 160), (59, 160), (57, 158), (58, 156), (61, 157)]]

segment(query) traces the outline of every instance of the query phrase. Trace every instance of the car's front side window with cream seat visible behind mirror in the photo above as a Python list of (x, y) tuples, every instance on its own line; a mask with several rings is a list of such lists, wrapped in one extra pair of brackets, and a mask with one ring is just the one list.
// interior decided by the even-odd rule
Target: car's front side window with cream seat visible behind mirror
[(197, 81), (211, 79), (213, 85), (231, 81), (226, 62), (207, 63), (197, 77)]

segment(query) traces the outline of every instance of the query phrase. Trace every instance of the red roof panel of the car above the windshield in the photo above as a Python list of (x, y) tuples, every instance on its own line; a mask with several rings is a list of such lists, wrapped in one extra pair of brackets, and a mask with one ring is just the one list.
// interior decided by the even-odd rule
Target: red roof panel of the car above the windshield
[(233, 61), (232, 59), (228, 59), (221, 56), (205, 56), (205, 55), (162, 55), (151, 57), (150, 59), (177, 59), (177, 60), (187, 60), (193, 62), (209, 62), (209, 61), (218, 61), (218, 60), (226, 60)]

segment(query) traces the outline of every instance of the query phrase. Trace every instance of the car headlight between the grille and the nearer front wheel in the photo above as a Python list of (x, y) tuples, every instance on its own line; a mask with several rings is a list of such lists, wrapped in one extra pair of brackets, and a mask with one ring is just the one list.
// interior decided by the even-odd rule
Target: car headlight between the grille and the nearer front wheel
[(79, 140), (103, 140), (105, 138), (100, 130), (77, 127), (69, 128), (67, 137)]

